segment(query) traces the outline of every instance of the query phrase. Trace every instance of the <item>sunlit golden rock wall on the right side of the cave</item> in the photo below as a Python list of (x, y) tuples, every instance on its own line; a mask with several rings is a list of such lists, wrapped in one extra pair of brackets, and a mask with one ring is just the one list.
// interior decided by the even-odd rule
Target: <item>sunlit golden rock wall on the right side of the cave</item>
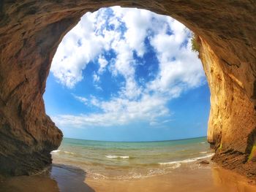
[(256, 144), (255, 105), (246, 95), (243, 82), (230, 70), (223, 70), (225, 62), (203, 39), (200, 43), (200, 58), (211, 91), (208, 142), (216, 150), (213, 160), (227, 169), (255, 177), (256, 159), (249, 159)]

